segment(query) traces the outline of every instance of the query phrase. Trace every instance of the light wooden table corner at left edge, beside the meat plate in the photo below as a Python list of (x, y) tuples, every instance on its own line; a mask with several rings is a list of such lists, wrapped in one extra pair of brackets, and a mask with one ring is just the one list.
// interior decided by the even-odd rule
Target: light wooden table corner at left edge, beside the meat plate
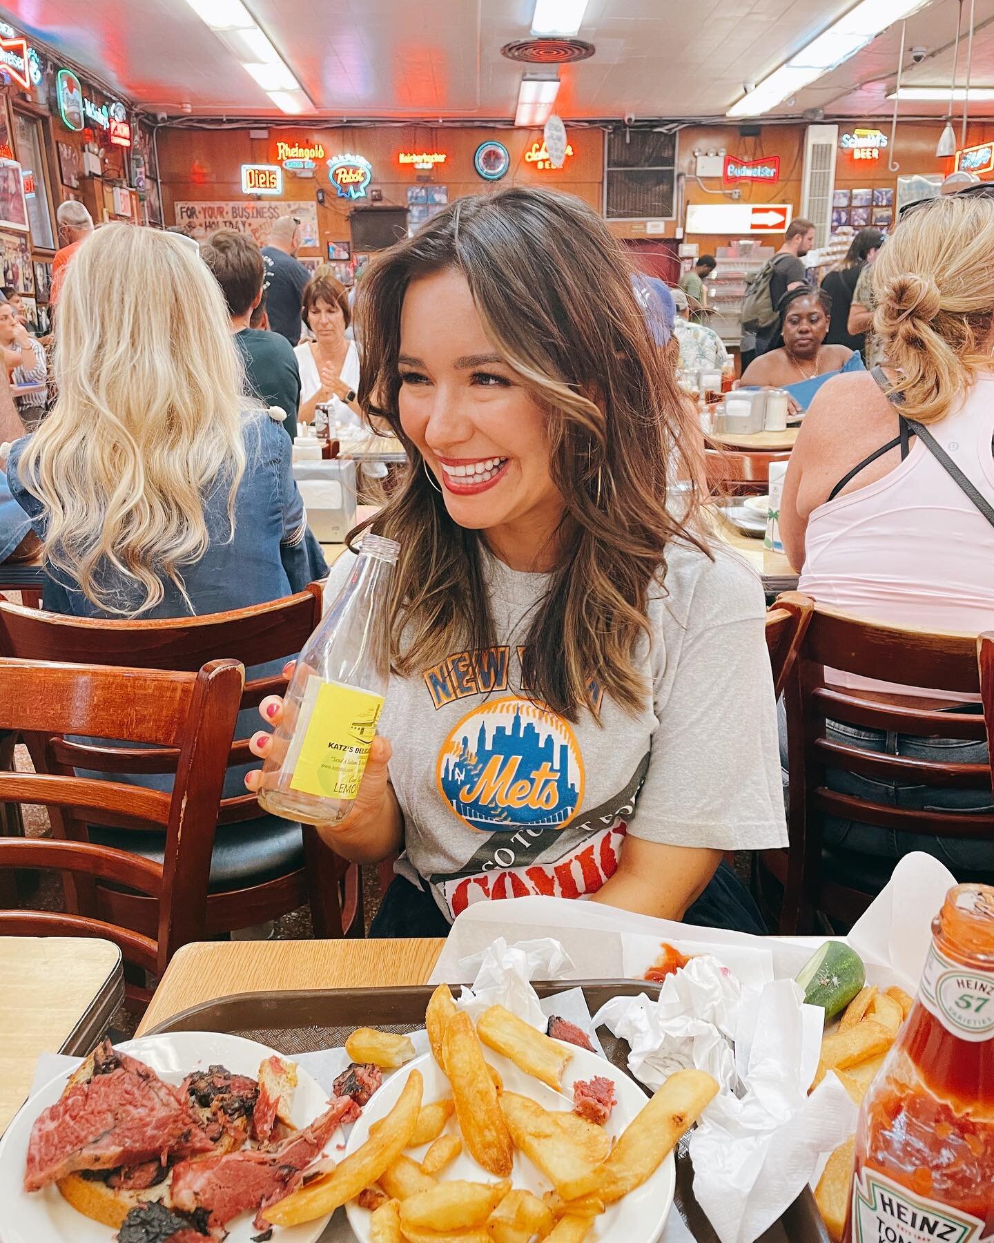
[(0, 1134), (40, 1053), (88, 1053), (124, 997), (121, 950), (88, 937), (0, 937)]

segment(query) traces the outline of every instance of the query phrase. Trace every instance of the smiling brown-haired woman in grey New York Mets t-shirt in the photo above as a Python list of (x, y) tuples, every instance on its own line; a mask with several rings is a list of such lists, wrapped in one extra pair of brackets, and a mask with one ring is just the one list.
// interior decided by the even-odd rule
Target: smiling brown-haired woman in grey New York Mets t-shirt
[(373, 523), (401, 543), (383, 737), (319, 832), (404, 851), (374, 931), (554, 894), (762, 932), (718, 868), (787, 842), (762, 585), (692, 495), (673, 517), (696, 439), (620, 245), (569, 195), (461, 199), (373, 261), (359, 319), (411, 467)]

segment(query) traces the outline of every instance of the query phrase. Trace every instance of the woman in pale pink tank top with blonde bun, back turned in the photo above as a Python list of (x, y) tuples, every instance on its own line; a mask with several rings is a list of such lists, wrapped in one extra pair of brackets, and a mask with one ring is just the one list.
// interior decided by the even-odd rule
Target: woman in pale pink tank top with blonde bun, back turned
[[(937, 199), (901, 221), (873, 267), (883, 368), (839, 377), (804, 420), (780, 503), (799, 589), (856, 617), (921, 630), (994, 629), (994, 186)], [(831, 675), (830, 675), (831, 676)], [(968, 696), (836, 674), (862, 695), (948, 711)], [(830, 726), (891, 755), (985, 762), (954, 740)], [(782, 743), (782, 755), (785, 751)], [(928, 791), (829, 773), (887, 805), (990, 809), (990, 791)], [(994, 873), (990, 843), (895, 834), (847, 820), (825, 844), (891, 859), (921, 849), (960, 876)]]

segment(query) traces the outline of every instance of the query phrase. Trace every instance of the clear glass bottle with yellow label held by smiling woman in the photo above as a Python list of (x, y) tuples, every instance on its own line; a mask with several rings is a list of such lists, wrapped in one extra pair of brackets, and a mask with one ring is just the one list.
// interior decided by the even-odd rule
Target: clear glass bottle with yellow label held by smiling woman
[(258, 802), (304, 824), (348, 815), (390, 679), (386, 603), (400, 544), (363, 536), (338, 598), (297, 660)]

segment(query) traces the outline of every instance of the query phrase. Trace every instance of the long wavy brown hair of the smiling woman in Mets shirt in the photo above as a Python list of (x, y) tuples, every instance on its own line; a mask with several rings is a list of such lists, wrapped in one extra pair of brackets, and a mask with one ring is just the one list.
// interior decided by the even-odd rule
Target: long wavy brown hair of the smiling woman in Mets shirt
[[(704, 548), (688, 531), (701, 436), (635, 298), (621, 246), (584, 203), (547, 190), (460, 199), (363, 277), (359, 403), (388, 420), (410, 462), (372, 520), (401, 544), (394, 667), (417, 675), (496, 641), (481, 533), (449, 517), (398, 410), (404, 295), (410, 281), (445, 268), (466, 277), (487, 337), (547, 411), (550, 475), (565, 507), (564, 551), (526, 639), (527, 694), (569, 720), (601, 694), (635, 711), (651, 692), (635, 649), (651, 639), (647, 600), (650, 589), (660, 594), (667, 546), (682, 538)], [(672, 488), (677, 471), (690, 481), (681, 493)]]

